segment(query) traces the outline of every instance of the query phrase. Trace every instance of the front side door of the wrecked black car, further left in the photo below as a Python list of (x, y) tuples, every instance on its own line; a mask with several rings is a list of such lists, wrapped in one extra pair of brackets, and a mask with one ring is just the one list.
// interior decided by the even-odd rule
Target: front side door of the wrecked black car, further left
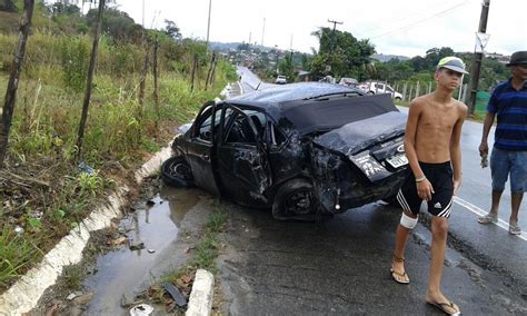
[(220, 195), (220, 190), (215, 176), (215, 127), (220, 113), (213, 101), (203, 105), (192, 125), (187, 147), (187, 160), (192, 169), (195, 184), (216, 196)]

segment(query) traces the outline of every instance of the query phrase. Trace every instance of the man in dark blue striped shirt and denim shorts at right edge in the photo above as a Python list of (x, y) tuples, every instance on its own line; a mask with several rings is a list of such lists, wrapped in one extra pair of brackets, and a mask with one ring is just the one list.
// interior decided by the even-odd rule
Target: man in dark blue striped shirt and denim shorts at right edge
[(527, 191), (527, 51), (517, 51), (507, 63), (513, 77), (493, 92), (485, 117), (479, 154), (488, 155), (487, 138), (497, 116), (495, 142), (490, 156), (493, 177), (493, 206), (478, 219), (480, 224), (498, 221), (498, 207), (505, 182), (510, 177), (511, 213), (509, 233), (521, 234), (518, 211)]

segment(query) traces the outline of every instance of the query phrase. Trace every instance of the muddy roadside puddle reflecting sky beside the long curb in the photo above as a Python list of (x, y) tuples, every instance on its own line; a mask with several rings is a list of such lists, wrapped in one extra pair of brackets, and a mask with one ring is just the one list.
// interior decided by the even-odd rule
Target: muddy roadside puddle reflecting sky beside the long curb
[(121, 302), (133, 299), (132, 290), (149, 276), (162, 250), (177, 240), (181, 220), (198, 199), (199, 190), (163, 187), (151, 200), (135, 205), (137, 210), (119, 223), (128, 241), (99, 256), (97, 273), (84, 280), (86, 290), (95, 294), (84, 315), (128, 315)]

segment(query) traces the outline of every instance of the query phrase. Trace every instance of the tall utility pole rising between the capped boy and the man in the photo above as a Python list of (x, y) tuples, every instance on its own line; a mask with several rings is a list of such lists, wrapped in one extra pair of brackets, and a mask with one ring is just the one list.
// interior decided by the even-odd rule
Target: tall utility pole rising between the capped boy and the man
[[(485, 45), (479, 38), (480, 34), (484, 34), (487, 31), (487, 18), (488, 18), (488, 9), (490, 6), (490, 0), (484, 0), (481, 3), (481, 16), (479, 17), (479, 28), (478, 28), (478, 37), (476, 40), (476, 50), (474, 52), (474, 61), (473, 68), (470, 69), (470, 98), (468, 101), (468, 112), (474, 113), (476, 109), (476, 95), (478, 92), (478, 83), (479, 83), (479, 70), (481, 68), (481, 60), (484, 56), (484, 47)], [(477, 46), (480, 46), (478, 49)]]

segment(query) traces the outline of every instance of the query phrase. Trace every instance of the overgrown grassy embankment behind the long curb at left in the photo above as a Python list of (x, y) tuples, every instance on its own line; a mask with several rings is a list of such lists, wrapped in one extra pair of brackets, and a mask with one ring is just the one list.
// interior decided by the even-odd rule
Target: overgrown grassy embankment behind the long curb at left
[[(16, 42), (16, 36), (0, 34), (2, 100)], [(177, 122), (190, 119), (236, 79), (233, 69), (220, 61), (213, 87), (205, 91), (205, 57), (191, 91), (195, 52), (180, 51), (175, 59), (173, 46), (161, 45), (158, 120), (151, 73), (145, 108), (138, 102), (143, 50), (103, 38), (82, 146), (82, 161), (95, 172), (81, 172), (76, 141), (90, 49), (87, 36), (36, 32), (29, 38), (9, 157), (0, 171), (0, 293), (76, 227), (106, 191), (132, 179), (133, 170), (167, 145)]]

